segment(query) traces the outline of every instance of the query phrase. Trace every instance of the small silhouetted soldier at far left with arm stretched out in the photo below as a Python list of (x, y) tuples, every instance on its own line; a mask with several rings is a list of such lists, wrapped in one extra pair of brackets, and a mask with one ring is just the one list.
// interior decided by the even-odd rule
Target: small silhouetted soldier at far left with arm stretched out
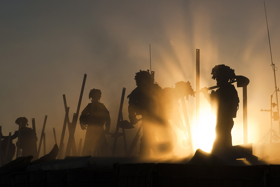
[[(17, 125), (20, 125), (20, 145), (18, 145), (18, 142), (16, 142), (16, 145), (19, 146), (20, 149), (22, 149), (22, 156), (30, 156), (32, 155), (34, 158), (37, 158), (37, 141), (38, 138), (36, 136), (36, 133), (32, 128), (27, 127), (28, 126), (28, 120), (26, 117), (19, 117), (17, 120), (15, 120), (15, 123)], [(15, 133), (11, 136), (11, 140), (18, 137), (18, 131), (15, 131)], [(7, 139), (8, 136), (2, 136), (2, 138)], [(10, 142), (10, 146), (13, 147), (13, 144)], [(5, 151), (6, 152), (6, 151)], [(12, 151), (11, 151), (12, 155)]]

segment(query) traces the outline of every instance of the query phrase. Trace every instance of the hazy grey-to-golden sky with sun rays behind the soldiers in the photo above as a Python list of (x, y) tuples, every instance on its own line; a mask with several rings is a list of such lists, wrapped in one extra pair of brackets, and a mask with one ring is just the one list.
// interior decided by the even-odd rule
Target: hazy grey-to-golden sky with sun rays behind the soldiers
[[(272, 59), (277, 67), (280, 1), (267, 0), (265, 5)], [(100, 89), (100, 101), (110, 111), (110, 131), (114, 132), (122, 87), (126, 88), (123, 117), (128, 119), (126, 97), (136, 87), (134, 75), (140, 69), (150, 69), (149, 44), (155, 82), (162, 88), (175, 86), (178, 81), (190, 81), (196, 90), (196, 49), (200, 49), (201, 88), (216, 84), (210, 73), (218, 64), (228, 65), (236, 75), (248, 77), (248, 143), (256, 143), (270, 128), (269, 114), (260, 112), (260, 109), (270, 109), (270, 95), (274, 92), (263, 1), (3, 0), (0, 18), (3, 135), (17, 130), (15, 120), (25, 116), (30, 127), (31, 118), (35, 118), (40, 138), (44, 117), (48, 115), (47, 152), (50, 151), (54, 144), (53, 127), (58, 140), (62, 131), (65, 114), (62, 95), (66, 95), (72, 121), (85, 73), (80, 113), (90, 102), (90, 89)], [(276, 71), (276, 81), (280, 84), (279, 71)], [(237, 91), (241, 103), (232, 129), (234, 145), (243, 143), (242, 89)], [(209, 104), (202, 95), (200, 98), (202, 112), (209, 112)], [(188, 113), (195, 129), (195, 98), (189, 100)], [(273, 102), (276, 102), (275, 94)], [(215, 128), (203, 125), (197, 133), (199, 138), (209, 133), (205, 129), (213, 132)], [(138, 126), (127, 131), (127, 136), (133, 137)], [(274, 128), (279, 131), (278, 123), (274, 123)], [(77, 146), (84, 136), (85, 131), (77, 124)], [(107, 139), (111, 152), (112, 138)], [(131, 139), (128, 141), (130, 145)], [(206, 138), (206, 141), (211, 140)], [(118, 147), (123, 149), (122, 145), (120, 138)], [(179, 149), (182, 147), (178, 146), (175, 154)]]

